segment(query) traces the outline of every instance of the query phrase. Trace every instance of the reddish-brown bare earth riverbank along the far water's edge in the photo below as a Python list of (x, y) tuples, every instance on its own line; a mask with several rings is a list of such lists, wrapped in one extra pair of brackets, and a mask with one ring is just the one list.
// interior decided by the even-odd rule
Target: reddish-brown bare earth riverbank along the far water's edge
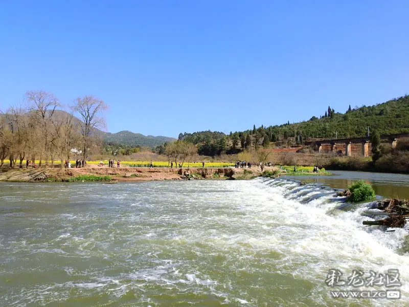
[(252, 179), (258, 169), (225, 168), (164, 168), (164, 167), (99, 167), (84, 168), (9, 168), (0, 169), (0, 181), (12, 182), (73, 182), (73, 181), (151, 181), (199, 179)]

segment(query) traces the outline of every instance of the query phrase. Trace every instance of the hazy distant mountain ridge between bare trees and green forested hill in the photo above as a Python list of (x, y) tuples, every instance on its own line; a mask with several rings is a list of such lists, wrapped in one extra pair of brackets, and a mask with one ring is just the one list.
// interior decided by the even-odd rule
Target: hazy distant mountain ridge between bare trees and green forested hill
[(163, 136), (144, 136), (140, 133), (133, 133), (128, 130), (119, 131), (117, 133), (105, 133), (104, 134), (104, 141), (107, 143), (115, 143), (115, 144), (122, 144), (128, 145), (131, 147), (135, 146), (148, 146), (148, 147), (156, 147), (159, 145), (164, 144), (165, 142), (173, 142), (176, 139), (163, 137)]

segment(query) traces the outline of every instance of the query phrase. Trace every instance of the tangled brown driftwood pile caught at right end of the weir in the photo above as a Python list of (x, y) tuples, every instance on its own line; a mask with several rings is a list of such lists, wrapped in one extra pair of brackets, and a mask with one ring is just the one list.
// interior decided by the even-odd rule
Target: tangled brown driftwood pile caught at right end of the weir
[(406, 225), (406, 219), (409, 218), (409, 201), (391, 199), (376, 202), (379, 210), (389, 213), (387, 218), (378, 221), (363, 221), (363, 225), (381, 225), (391, 228), (402, 228)]

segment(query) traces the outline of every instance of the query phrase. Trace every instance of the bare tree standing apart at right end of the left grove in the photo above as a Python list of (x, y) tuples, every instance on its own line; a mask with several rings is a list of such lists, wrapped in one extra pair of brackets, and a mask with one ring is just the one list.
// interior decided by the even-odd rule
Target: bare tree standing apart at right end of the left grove
[(107, 109), (107, 105), (102, 100), (98, 100), (93, 96), (84, 96), (75, 100), (74, 111), (78, 112), (83, 124), (81, 125), (81, 134), (83, 139), (83, 161), (86, 164), (88, 146), (90, 146), (90, 138), (96, 135), (97, 129), (105, 127), (105, 119), (101, 117), (102, 111)]

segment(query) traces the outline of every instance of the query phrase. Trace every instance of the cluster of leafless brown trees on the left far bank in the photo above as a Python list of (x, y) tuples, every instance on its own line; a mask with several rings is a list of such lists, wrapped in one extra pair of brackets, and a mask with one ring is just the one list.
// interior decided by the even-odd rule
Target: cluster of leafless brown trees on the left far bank
[[(69, 112), (61, 111), (65, 107)], [(71, 105), (62, 103), (44, 91), (28, 91), (25, 102), (1, 111), (0, 116), (0, 166), (7, 157), (10, 167), (18, 160), (33, 163), (38, 158), (39, 166), (45, 161), (49, 167), (55, 160), (70, 159), (72, 148), (81, 148), (82, 160), (86, 163), (89, 153), (100, 142), (100, 128), (105, 125), (102, 112), (107, 108), (104, 101), (93, 96), (76, 98)], [(79, 121), (74, 114), (78, 115)]]

